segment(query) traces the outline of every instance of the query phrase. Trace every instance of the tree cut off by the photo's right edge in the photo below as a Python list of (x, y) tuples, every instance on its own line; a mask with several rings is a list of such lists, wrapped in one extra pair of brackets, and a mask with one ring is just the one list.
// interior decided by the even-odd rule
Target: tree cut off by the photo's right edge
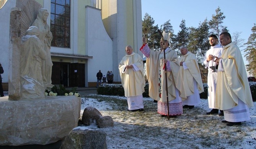
[(246, 65), (247, 71), (256, 76), (256, 24), (254, 24), (253, 28), (251, 29), (253, 32), (250, 37), (248, 38), (246, 49), (245, 49), (245, 56), (248, 64)]

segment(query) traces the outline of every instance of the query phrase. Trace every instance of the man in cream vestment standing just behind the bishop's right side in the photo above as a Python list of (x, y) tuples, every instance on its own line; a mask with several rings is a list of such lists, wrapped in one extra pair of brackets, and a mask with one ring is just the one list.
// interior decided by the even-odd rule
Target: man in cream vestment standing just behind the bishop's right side
[(180, 69), (186, 92), (186, 100), (182, 101), (183, 108), (192, 109), (200, 103), (200, 93), (204, 92), (201, 73), (196, 55), (188, 51), (185, 46), (180, 48)]

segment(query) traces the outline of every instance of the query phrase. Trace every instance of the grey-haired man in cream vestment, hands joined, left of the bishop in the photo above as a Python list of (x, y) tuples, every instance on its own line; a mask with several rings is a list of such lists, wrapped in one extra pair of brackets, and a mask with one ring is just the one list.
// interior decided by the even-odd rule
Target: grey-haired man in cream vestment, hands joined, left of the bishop
[(119, 63), (119, 74), (127, 97), (128, 111), (143, 111), (143, 60), (139, 54), (133, 52), (131, 46), (126, 46), (125, 51), (126, 55)]

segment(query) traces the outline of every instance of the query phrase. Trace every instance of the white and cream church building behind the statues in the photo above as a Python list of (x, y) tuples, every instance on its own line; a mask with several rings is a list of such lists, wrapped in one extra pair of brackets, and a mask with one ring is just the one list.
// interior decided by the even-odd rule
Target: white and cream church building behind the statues
[[(35, 4), (49, 12), (53, 85), (95, 87), (99, 70), (103, 75), (112, 71), (113, 83), (119, 83), (118, 63), (126, 54), (125, 47), (131, 45), (142, 56), (141, 0), (0, 0), (4, 89), (8, 89), (8, 81), (13, 77), (10, 72), (15, 69), (9, 65), (13, 48), (10, 20), (15, 17), (11, 13), (29, 10)], [(24, 35), (20, 32), (16, 36)]]

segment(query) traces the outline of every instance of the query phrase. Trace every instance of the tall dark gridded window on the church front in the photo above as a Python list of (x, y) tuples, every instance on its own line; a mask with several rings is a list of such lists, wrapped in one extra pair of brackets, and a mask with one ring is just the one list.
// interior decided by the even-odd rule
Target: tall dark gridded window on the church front
[(51, 46), (70, 48), (70, 0), (51, 0)]

